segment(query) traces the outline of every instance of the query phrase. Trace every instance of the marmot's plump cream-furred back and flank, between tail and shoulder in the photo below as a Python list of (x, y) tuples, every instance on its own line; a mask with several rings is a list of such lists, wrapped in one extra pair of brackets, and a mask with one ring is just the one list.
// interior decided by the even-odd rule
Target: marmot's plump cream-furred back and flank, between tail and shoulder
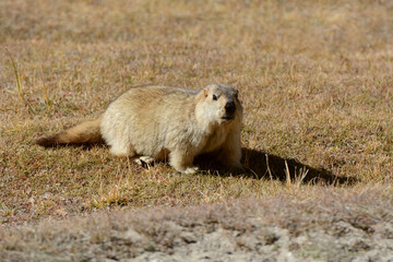
[[(192, 124), (194, 92), (165, 86), (134, 87), (104, 114), (102, 134), (117, 155), (162, 153), (171, 129)], [(184, 121), (187, 120), (187, 121)], [(133, 148), (129, 148), (132, 144)]]

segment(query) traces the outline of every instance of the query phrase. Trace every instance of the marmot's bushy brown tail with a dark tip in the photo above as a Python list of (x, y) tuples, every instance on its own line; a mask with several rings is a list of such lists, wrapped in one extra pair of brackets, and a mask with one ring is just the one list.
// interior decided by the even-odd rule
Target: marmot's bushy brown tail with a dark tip
[(61, 133), (44, 136), (36, 141), (37, 144), (44, 147), (51, 147), (60, 144), (87, 144), (104, 142), (100, 134), (102, 116), (93, 121), (80, 123)]

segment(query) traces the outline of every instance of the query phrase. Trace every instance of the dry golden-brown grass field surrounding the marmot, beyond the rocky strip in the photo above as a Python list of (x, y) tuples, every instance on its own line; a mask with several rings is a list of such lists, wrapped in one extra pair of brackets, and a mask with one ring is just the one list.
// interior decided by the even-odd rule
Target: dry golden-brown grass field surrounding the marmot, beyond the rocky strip
[[(348, 190), (384, 183), (391, 195), (392, 9), (366, 0), (0, 1), (0, 222), (307, 195), (315, 180)], [(247, 174), (180, 176), (103, 146), (33, 144), (94, 118), (132, 85), (211, 82), (240, 90)]]

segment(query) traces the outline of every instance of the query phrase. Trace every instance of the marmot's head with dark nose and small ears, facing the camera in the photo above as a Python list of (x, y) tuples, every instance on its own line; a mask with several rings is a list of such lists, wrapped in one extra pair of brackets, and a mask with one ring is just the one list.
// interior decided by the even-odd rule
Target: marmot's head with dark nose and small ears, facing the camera
[(238, 91), (225, 84), (210, 84), (199, 94), (196, 111), (207, 121), (217, 123), (242, 119)]

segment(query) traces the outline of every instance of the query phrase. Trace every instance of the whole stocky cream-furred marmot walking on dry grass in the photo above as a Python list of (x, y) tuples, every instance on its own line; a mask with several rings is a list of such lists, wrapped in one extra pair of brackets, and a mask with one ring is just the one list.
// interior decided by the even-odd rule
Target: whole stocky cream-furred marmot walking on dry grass
[(242, 106), (238, 91), (210, 84), (196, 92), (147, 85), (132, 87), (109, 104), (96, 120), (83, 122), (37, 144), (104, 141), (116, 156), (151, 162), (169, 157), (178, 171), (192, 174), (196, 155), (216, 152), (225, 166), (241, 167)]

